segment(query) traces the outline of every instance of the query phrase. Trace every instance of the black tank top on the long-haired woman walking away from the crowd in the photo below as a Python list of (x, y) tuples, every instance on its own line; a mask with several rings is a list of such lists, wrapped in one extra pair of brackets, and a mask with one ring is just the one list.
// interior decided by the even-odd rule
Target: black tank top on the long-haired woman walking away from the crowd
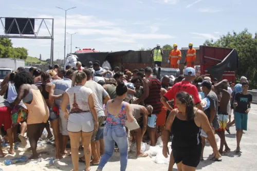
[(182, 121), (177, 118), (176, 113), (171, 130), (173, 134), (172, 148), (185, 148), (201, 145), (201, 128), (195, 124), (194, 119)]

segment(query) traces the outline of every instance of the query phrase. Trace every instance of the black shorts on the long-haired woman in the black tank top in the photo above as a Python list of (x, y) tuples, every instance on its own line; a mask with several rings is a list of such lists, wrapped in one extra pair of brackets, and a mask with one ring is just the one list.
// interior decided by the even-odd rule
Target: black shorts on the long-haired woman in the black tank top
[(172, 154), (174, 161), (175, 163), (180, 163), (182, 161), (182, 164), (184, 165), (197, 167), (200, 162), (202, 149), (203, 145), (190, 148), (173, 148)]

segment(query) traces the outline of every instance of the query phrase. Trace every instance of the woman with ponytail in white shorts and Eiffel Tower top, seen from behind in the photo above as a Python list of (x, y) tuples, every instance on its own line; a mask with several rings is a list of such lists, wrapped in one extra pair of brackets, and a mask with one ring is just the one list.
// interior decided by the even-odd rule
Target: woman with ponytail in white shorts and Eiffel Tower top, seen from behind
[[(61, 109), (68, 120), (67, 130), (70, 138), (73, 170), (79, 170), (79, 146), (82, 137), (85, 170), (89, 171), (91, 151), (88, 147), (94, 129), (98, 129), (98, 119), (93, 91), (84, 87), (85, 84), (86, 74), (83, 71), (75, 71), (72, 77), (72, 87), (68, 88), (63, 95)], [(70, 111), (66, 108), (68, 103)]]

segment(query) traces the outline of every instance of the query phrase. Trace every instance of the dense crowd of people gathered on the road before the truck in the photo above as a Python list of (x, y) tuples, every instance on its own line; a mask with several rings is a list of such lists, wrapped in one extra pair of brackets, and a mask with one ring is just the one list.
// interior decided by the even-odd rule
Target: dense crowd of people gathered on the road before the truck
[[(138, 158), (148, 157), (141, 150), (142, 141), (155, 146), (161, 137), (163, 156), (170, 155), (169, 171), (175, 163), (178, 170), (195, 170), (204, 160), (206, 141), (213, 148), (211, 160), (222, 161), (221, 155), (230, 151), (225, 131), (230, 134), (233, 124), (236, 153), (240, 153), (252, 101), (245, 77), (236, 85), (211, 81), (205, 75), (196, 77), (195, 69), (187, 67), (178, 78), (164, 75), (159, 80), (151, 67), (124, 72), (115, 67), (111, 71), (99, 61), (89, 62), (85, 68), (80, 62), (65, 69), (54, 65), (45, 72), (19, 67), (1, 87), (0, 124), (2, 136), (10, 143), (9, 153), (15, 153), (13, 142), (26, 146), (28, 138), (30, 159), (38, 159), (36, 147), (46, 129), (47, 138), (54, 138), (56, 159), (71, 155), (74, 171), (79, 170), (79, 162), (85, 162), (86, 171), (90, 165), (102, 170), (115, 148), (120, 153), (120, 170), (126, 170), (128, 134), (136, 142)], [(214, 134), (221, 140), (219, 149)], [(71, 153), (66, 150), (68, 141)], [(79, 157), (80, 148), (83, 157)], [(0, 157), (4, 156), (0, 148)]]

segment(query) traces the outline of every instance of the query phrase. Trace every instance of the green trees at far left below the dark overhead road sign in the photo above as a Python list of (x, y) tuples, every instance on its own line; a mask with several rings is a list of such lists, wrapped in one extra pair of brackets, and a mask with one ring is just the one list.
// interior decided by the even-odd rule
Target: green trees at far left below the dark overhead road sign
[(7, 38), (0, 38), (0, 58), (17, 58), (26, 60), (28, 50), (23, 47), (12, 47), (12, 42)]

